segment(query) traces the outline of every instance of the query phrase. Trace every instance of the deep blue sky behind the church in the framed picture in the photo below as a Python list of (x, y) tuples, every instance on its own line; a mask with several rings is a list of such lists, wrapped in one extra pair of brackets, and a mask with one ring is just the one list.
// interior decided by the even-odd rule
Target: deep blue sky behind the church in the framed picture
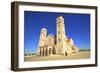
[(47, 35), (56, 34), (56, 18), (60, 15), (65, 20), (66, 35), (78, 48), (90, 49), (90, 14), (24, 11), (25, 53), (36, 51), (42, 28), (47, 29)]

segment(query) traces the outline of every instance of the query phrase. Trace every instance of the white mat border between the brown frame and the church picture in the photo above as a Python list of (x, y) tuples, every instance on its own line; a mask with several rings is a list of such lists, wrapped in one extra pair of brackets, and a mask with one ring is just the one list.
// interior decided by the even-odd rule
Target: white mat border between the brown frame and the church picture
[[(65, 12), (65, 13), (89, 13), (91, 15), (91, 31), (90, 31), (90, 48), (91, 48), (91, 58), (90, 59), (78, 59), (78, 60), (58, 60), (58, 61), (33, 61), (33, 62), (24, 62), (24, 11), (49, 11), (49, 12)], [(48, 7), (48, 6), (28, 6), (28, 5), (19, 5), (19, 68), (35, 68), (35, 67), (50, 67), (50, 66), (63, 66), (63, 65), (84, 65), (84, 64), (95, 64), (95, 10), (94, 9), (84, 9), (84, 8), (63, 8), (63, 7)]]

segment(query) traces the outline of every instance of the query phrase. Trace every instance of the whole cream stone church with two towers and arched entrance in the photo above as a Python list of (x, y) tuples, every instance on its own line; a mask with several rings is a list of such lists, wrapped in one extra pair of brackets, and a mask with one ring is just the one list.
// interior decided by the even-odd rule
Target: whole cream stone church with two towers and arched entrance
[(47, 29), (42, 28), (37, 49), (37, 55), (68, 55), (78, 52), (73, 39), (65, 34), (65, 23), (62, 16), (56, 19), (56, 35), (47, 34)]

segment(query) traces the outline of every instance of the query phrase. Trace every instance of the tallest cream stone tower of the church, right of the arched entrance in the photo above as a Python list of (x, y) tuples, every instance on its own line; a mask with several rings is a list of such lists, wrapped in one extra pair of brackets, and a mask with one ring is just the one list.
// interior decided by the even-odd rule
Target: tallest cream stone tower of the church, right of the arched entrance
[(57, 17), (57, 53), (63, 54), (66, 48), (65, 24), (62, 16)]

